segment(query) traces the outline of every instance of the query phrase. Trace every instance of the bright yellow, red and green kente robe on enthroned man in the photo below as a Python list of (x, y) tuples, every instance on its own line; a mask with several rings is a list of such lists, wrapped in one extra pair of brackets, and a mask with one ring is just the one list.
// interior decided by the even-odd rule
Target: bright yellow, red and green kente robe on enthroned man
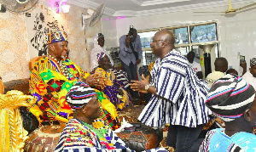
[(66, 66), (66, 71), (61, 70), (58, 61), (49, 57), (39, 59), (32, 69), (29, 91), (37, 101), (30, 110), (40, 122), (67, 122), (72, 110), (66, 102), (66, 94), (73, 84), (90, 75), (68, 58), (61, 62)]

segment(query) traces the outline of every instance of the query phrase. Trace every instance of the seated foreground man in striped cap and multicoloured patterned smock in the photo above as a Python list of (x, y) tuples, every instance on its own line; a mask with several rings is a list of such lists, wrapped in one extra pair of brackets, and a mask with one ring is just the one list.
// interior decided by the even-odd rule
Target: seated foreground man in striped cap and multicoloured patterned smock
[[(67, 93), (73, 119), (61, 132), (55, 152), (59, 151), (134, 151), (101, 121), (102, 95), (84, 82), (78, 82)], [(166, 151), (165, 149), (159, 149)], [(148, 150), (150, 151), (150, 150)], [(154, 150), (156, 151), (156, 150)]]

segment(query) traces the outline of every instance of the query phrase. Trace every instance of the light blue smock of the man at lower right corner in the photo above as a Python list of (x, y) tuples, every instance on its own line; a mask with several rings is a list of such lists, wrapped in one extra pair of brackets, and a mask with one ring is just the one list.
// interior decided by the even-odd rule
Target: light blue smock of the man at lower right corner
[(201, 144), (200, 152), (255, 152), (256, 137), (252, 133), (238, 132), (232, 137), (224, 133), (224, 128), (213, 129)]

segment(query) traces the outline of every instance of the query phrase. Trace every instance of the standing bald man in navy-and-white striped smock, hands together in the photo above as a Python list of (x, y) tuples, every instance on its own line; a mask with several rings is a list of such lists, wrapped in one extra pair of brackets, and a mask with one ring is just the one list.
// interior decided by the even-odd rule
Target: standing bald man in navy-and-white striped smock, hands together
[(177, 152), (198, 151), (202, 140), (197, 138), (210, 113), (204, 104), (209, 87), (188, 59), (173, 49), (171, 31), (158, 31), (150, 45), (159, 57), (150, 73), (152, 81), (143, 77), (131, 84), (136, 91), (153, 93), (138, 119), (151, 127), (170, 123), (166, 144)]

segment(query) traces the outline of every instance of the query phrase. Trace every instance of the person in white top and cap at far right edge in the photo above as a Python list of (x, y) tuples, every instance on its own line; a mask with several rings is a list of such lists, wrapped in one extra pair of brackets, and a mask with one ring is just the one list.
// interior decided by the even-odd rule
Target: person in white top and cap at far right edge
[(249, 71), (241, 77), (256, 90), (256, 58), (250, 59), (250, 66)]

